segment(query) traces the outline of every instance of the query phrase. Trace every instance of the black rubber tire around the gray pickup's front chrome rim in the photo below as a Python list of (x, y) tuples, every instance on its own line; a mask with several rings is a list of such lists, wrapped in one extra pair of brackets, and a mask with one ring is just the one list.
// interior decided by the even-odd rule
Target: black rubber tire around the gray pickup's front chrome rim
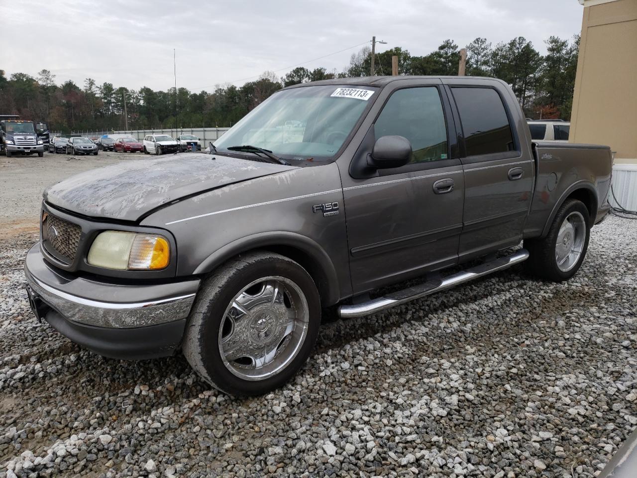
[[(308, 306), (308, 327), (296, 356), (275, 375), (247, 380), (235, 375), (222, 359), (218, 337), (225, 313), (236, 294), (264, 277), (279, 276), (291, 280), (302, 291)], [(201, 287), (190, 311), (182, 351), (190, 366), (202, 379), (225, 393), (240, 396), (261, 395), (290, 380), (303, 366), (318, 336), (320, 298), (310, 275), (291, 259), (271, 252), (250, 252), (220, 266)]]

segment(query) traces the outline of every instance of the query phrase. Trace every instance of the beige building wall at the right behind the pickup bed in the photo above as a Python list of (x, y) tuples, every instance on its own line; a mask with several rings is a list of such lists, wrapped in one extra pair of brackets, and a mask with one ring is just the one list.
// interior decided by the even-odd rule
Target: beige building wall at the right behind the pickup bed
[(615, 164), (637, 164), (637, 0), (583, 6), (570, 141), (609, 145)]

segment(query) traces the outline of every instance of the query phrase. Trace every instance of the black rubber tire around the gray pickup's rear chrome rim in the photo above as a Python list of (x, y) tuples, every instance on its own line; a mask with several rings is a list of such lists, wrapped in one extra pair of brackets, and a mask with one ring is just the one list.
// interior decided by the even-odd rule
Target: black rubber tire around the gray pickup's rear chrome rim
[[(557, 238), (559, 235), (562, 222), (571, 214), (580, 214), (583, 218), (583, 243), (578, 259), (573, 263), (569, 270), (564, 271), (559, 268), (556, 258)], [(540, 279), (552, 280), (554, 282), (562, 282), (568, 280), (582, 266), (586, 251), (589, 247), (590, 239), (590, 215), (589, 210), (577, 199), (567, 199), (564, 204), (557, 210), (555, 218), (548, 229), (545, 238), (527, 239), (524, 241), (524, 247), (529, 251), (529, 259), (526, 261), (529, 273)]]

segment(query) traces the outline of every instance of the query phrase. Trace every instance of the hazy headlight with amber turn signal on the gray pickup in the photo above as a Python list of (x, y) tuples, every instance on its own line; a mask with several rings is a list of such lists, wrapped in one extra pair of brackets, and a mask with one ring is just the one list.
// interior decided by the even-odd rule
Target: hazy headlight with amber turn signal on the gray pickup
[(92, 266), (118, 270), (159, 270), (168, 266), (169, 260), (166, 238), (125, 231), (97, 235), (88, 257)]

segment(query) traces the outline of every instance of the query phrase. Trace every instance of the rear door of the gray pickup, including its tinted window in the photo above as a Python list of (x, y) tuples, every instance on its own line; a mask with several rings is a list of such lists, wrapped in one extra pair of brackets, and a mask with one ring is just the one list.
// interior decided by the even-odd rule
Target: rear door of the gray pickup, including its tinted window
[(508, 89), (475, 80), (449, 86), (462, 130), (465, 199), (459, 259), (466, 261), (522, 240), (534, 163), (529, 145), (521, 143), (526, 136), (518, 134), (526, 121), (521, 111), (510, 110), (513, 102), (519, 106)]

